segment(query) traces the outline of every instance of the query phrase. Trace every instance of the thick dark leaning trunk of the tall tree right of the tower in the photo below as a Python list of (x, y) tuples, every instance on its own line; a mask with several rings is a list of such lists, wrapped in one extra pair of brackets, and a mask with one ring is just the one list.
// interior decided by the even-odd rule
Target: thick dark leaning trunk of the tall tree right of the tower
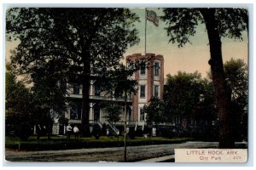
[(224, 77), (221, 39), (218, 32), (218, 21), (215, 20), (215, 8), (201, 9), (205, 20), (210, 44), (212, 82), (217, 97), (219, 117), (219, 148), (234, 148), (235, 140), (232, 133), (231, 93)]

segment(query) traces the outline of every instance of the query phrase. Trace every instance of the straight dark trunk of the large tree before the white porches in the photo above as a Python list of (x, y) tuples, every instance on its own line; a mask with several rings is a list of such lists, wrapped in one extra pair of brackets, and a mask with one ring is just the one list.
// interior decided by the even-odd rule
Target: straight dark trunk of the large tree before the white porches
[(90, 90), (90, 54), (84, 54), (84, 71), (82, 75), (82, 136), (90, 137), (89, 125), (89, 90)]

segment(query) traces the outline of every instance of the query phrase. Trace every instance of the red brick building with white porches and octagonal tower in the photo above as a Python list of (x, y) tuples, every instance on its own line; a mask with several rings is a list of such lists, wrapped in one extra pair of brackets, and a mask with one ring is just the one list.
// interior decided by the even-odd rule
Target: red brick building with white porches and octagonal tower
[[(148, 101), (152, 96), (157, 96), (163, 99), (164, 93), (164, 58), (162, 55), (155, 54), (132, 54), (126, 57), (131, 61), (149, 57), (148, 66), (142, 66), (139, 71), (136, 71), (132, 78), (138, 82), (137, 94), (128, 94), (128, 108), (127, 108), (127, 123), (128, 127), (144, 126), (145, 113), (143, 106), (148, 105)], [(90, 124), (109, 124), (104, 116), (108, 113), (102, 108), (101, 104), (105, 101), (119, 102), (119, 105), (125, 105), (125, 99), (122, 96), (116, 97), (107, 95), (106, 92), (100, 90), (101, 84), (96, 80), (90, 80)], [(70, 101), (70, 106), (67, 108), (65, 117), (69, 120), (70, 124), (81, 124), (81, 110), (82, 110), (82, 86), (79, 84), (69, 85), (67, 89), (67, 98)], [(115, 125), (122, 126), (124, 116), (121, 115), (121, 121), (116, 122)], [(115, 127), (113, 127), (115, 128)], [(58, 123), (53, 127), (53, 133), (61, 134), (65, 132), (66, 127)], [(115, 131), (117, 131), (115, 129)], [(116, 132), (118, 133), (118, 132)]]

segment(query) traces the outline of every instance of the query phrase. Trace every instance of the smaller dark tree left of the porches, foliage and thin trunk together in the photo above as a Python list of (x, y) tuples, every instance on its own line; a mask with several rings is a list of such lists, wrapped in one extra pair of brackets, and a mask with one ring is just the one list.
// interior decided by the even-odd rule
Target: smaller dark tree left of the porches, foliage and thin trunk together
[(32, 71), (32, 94), (35, 123), (46, 127), (48, 139), (52, 132), (54, 119), (67, 109), (67, 77), (61, 77), (54, 60)]

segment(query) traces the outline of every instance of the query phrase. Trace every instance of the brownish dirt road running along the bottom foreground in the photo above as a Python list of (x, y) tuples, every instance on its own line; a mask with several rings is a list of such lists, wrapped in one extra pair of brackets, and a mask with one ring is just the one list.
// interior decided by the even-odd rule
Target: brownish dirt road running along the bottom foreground
[[(174, 148), (216, 148), (216, 142), (186, 142), (183, 144), (160, 144), (145, 146), (128, 146), (127, 161), (134, 162), (153, 157), (171, 156)], [(47, 151), (5, 151), (6, 161), (26, 162), (99, 162), (124, 161), (124, 148), (80, 149), (80, 150), (47, 150)]]

